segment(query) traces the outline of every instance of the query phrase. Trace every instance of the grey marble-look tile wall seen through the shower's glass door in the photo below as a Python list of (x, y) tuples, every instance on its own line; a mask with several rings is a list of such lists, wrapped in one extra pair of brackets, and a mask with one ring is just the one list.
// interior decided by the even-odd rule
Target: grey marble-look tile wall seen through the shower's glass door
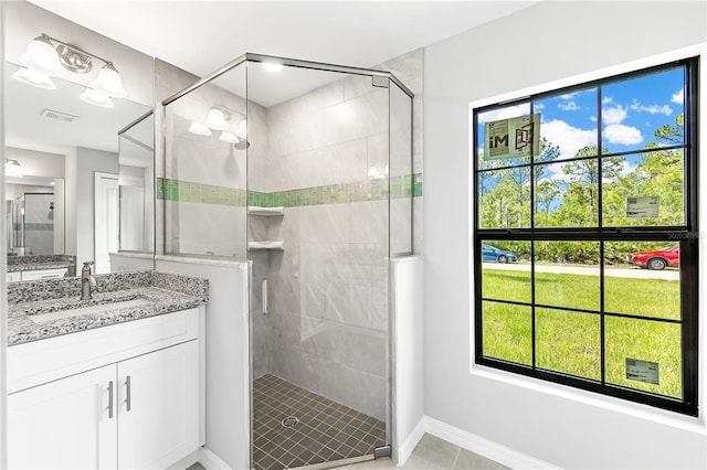
[[(393, 99), (393, 111), (405, 111), (402, 102)], [(338, 79), (267, 108), (266, 122), (266, 162), (249, 167), (250, 189), (277, 192), (387, 178), (389, 89), (373, 87), (370, 77)], [(411, 170), (411, 135), (399, 131), (404, 125), (391, 126), (390, 146), (399, 156), (408, 152), (407, 162), (395, 167), (399, 174)], [(409, 224), (410, 200), (399, 201), (407, 207), (395, 221)], [(286, 207), (278, 218), (251, 217), (250, 228), (252, 238), (282, 239), (285, 246), (251, 254), (253, 375), (273, 373), (386, 419), (388, 200)], [(395, 233), (410, 236), (410, 229)], [(266, 316), (261, 311), (264, 277)]]

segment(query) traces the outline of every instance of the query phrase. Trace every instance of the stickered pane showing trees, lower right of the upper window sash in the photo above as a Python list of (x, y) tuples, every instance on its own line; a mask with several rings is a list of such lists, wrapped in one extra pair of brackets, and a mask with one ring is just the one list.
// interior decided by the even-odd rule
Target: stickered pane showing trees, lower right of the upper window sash
[(685, 225), (685, 157), (661, 150), (602, 159), (604, 226)]

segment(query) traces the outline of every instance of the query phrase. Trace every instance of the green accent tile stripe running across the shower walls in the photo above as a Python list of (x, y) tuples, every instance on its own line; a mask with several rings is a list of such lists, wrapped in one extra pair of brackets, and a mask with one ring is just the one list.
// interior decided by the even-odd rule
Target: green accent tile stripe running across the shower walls
[(354, 183), (327, 184), (297, 190), (265, 193), (234, 188), (215, 186), (183, 180), (158, 178), (158, 200), (192, 202), (230, 206), (257, 205), (261, 207), (297, 207), (304, 205), (344, 204), (348, 202), (381, 201), (422, 196), (422, 173), (390, 179), (365, 180)]

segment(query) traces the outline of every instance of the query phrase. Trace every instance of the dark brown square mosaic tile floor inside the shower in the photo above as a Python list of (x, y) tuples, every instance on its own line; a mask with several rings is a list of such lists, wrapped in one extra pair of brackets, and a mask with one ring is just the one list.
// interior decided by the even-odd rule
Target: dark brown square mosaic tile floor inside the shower
[(253, 467), (279, 470), (371, 455), (383, 421), (274, 375), (253, 383)]

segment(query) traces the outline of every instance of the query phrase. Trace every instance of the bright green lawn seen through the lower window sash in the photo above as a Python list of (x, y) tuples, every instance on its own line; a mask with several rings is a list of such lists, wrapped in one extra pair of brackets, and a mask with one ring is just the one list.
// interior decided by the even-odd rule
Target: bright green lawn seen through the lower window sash
[[(530, 274), (484, 269), (486, 299), (530, 301)], [(679, 319), (679, 281), (605, 278), (608, 312)], [(599, 309), (599, 277), (536, 274), (536, 302)], [(532, 362), (531, 309), (483, 302), (484, 355), (520, 364)], [(679, 324), (606, 317), (606, 382), (662, 395), (682, 396)], [(625, 378), (625, 360), (658, 363), (659, 385)], [(591, 380), (601, 378), (600, 316), (536, 308), (536, 365)]]

